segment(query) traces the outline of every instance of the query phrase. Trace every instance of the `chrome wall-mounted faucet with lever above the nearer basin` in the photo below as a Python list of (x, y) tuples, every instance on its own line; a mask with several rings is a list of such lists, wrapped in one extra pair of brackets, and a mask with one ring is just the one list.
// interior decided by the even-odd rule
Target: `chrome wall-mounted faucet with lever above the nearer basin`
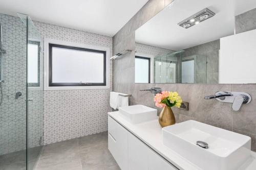
[(250, 94), (246, 92), (217, 91), (214, 95), (205, 96), (204, 99), (216, 99), (219, 102), (232, 103), (232, 109), (238, 111), (242, 104), (251, 102)]

